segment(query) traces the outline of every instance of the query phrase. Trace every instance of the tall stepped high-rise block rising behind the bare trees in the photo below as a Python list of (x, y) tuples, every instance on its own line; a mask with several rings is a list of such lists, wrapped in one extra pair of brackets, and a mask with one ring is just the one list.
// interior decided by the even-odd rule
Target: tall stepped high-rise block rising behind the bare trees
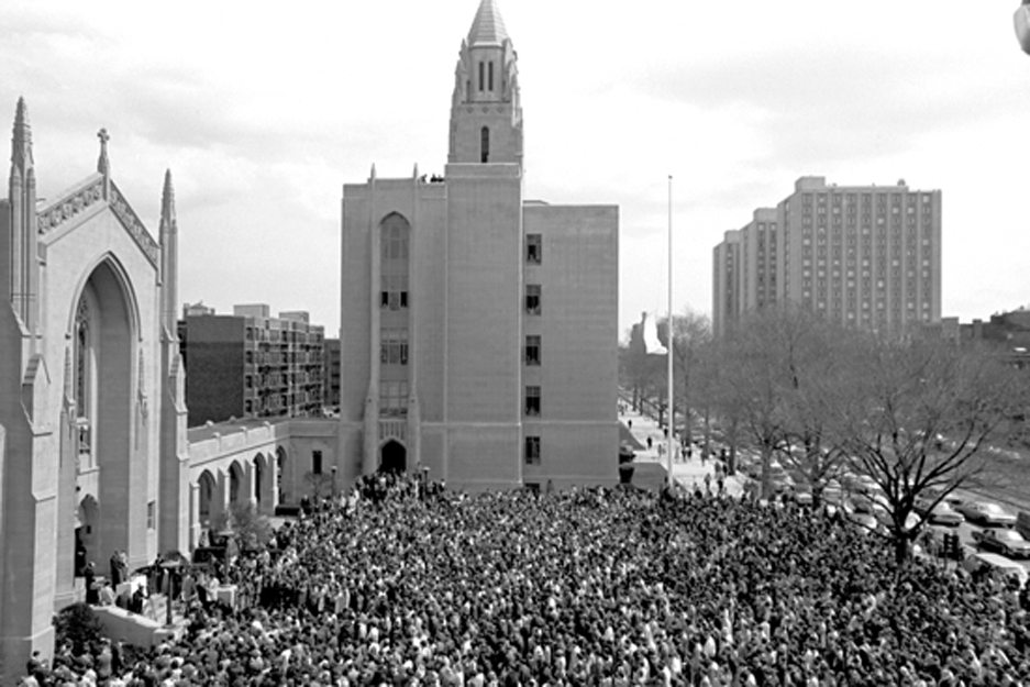
[(941, 319), (941, 191), (801, 177), (713, 251), (717, 335), (777, 302), (848, 326), (900, 331)]

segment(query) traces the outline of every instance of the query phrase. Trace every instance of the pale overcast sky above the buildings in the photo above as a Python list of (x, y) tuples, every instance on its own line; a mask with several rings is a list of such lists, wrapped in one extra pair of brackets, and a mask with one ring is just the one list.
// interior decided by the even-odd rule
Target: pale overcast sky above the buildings
[[(107, 128), (155, 236), (170, 167), (179, 300), (309, 310), (333, 335), (342, 185), (443, 171), (478, 3), (3, 0), (0, 125), (24, 96), (42, 197), (95, 170)], [(499, 4), (527, 197), (621, 207), (620, 337), (666, 307), (668, 175), (677, 312), (710, 312), (712, 247), (805, 175), (941, 189), (943, 314), (1030, 304), (1016, 0)]]

